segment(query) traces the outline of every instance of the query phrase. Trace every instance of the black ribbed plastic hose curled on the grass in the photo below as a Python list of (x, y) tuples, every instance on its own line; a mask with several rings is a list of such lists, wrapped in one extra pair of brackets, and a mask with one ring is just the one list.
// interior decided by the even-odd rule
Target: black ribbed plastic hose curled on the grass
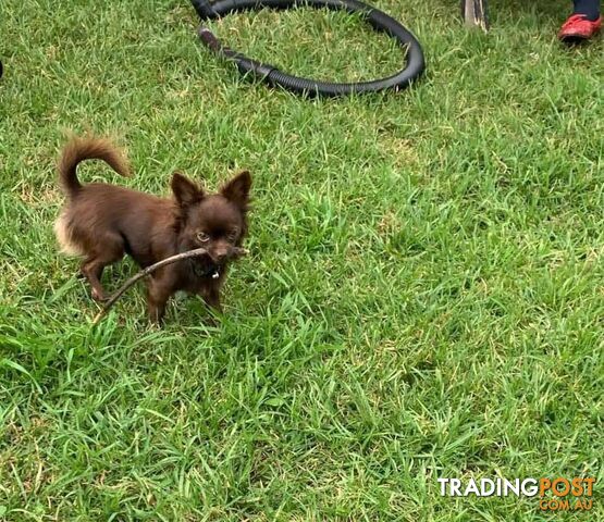
[(398, 73), (372, 82), (335, 84), (300, 78), (279, 71), (273, 65), (258, 62), (225, 46), (208, 29), (199, 27), (201, 41), (217, 54), (221, 54), (237, 64), (242, 74), (254, 74), (272, 86), (308, 96), (343, 96), (361, 92), (374, 92), (384, 89), (400, 90), (409, 86), (424, 69), (423, 52), (416, 37), (396, 20), (382, 11), (371, 8), (358, 0), (192, 0), (193, 7), (201, 20), (219, 18), (235, 11), (255, 9), (326, 8), (359, 13), (375, 30), (386, 33), (407, 49), (406, 65)]

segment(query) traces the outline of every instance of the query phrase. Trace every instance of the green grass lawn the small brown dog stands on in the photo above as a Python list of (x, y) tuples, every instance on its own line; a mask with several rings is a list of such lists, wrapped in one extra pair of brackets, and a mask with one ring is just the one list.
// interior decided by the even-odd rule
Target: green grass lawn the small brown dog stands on
[[(2, 2), (0, 520), (604, 520), (604, 41), (557, 42), (570, 1), (493, 0), (489, 35), (457, 0), (378, 4), (426, 76), (305, 100), (207, 52), (185, 0)], [(211, 26), (300, 75), (402, 60), (337, 13)], [(133, 163), (84, 181), (252, 172), (252, 254), (217, 325), (177, 298), (151, 327), (138, 285), (91, 326), (52, 233), (70, 129)], [(582, 475), (589, 513), (436, 482)]]

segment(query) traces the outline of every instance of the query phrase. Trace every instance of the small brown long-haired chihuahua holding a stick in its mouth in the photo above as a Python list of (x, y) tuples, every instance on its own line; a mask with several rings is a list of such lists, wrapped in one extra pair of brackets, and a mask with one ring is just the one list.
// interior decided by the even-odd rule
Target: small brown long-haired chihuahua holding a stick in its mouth
[(102, 271), (125, 253), (146, 268), (202, 247), (208, 250), (206, 257), (177, 261), (148, 277), (149, 315), (161, 322), (168, 299), (177, 290), (200, 295), (221, 310), (220, 288), (231, 252), (247, 233), (249, 173), (242, 172), (213, 195), (174, 173), (174, 197), (159, 198), (104, 183), (82, 185), (77, 164), (91, 159), (103, 160), (116, 173), (128, 175), (125, 158), (109, 140), (73, 138), (59, 160), (59, 181), (67, 203), (54, 231), (65, 253), (84, 257), (81, 271), (93, 287), (93, 298), (106, 300)]

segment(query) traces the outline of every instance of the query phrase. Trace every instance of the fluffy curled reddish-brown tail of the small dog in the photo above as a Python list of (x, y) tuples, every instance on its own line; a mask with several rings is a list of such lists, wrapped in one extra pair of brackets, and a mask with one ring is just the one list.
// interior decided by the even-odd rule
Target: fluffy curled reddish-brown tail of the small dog
[(99, 137), (73, 137), (63, 148), (59, 159), (59, 182), (63, 191), (73, 198), (82, 188), (77, 179), (77, 165), (84, 160), (102, 160), (118, 174), (130, 175), (124, 153), (109, 139)]

